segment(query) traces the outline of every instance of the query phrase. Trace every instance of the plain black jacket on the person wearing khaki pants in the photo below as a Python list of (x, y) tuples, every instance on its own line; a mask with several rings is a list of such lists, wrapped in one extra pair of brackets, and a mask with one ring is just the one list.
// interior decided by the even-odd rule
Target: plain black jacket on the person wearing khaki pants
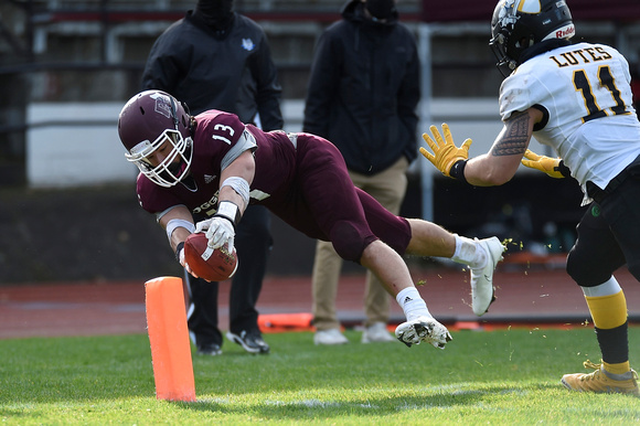
[(303, 130), (331, 140), (350, 170), (378, 173), (417, 156), (420, 65), (397, 14), (366, 20), (360, 0), (320, 36), (311, 67)]

